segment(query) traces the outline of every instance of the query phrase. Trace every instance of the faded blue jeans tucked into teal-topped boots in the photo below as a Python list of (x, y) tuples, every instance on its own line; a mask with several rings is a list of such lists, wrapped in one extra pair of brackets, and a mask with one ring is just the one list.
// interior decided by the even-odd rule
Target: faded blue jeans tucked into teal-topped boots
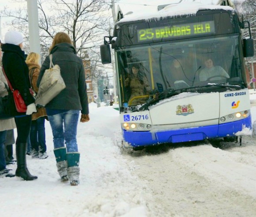
[(79, 110), (68, 110), (59, 114), (48, 116), (54, 149), (66, 145), (67, 152), (78, 152), (76, 131)]

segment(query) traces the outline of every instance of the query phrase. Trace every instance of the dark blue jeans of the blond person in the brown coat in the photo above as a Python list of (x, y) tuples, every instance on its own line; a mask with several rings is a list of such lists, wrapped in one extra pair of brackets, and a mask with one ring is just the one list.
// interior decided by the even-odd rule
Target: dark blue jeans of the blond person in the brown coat
[(46, 152), (44, 120), (44, 117), (37, 118), (32, 121), (30, 128), (31, 148), (41, 153)]

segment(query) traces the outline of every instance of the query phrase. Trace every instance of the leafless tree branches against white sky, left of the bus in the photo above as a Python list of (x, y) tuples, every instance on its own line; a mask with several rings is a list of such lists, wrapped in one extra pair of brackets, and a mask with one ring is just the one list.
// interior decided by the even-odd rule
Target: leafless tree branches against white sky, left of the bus
[[(28, 15), (26, 0), (18, 9), (3, 8), (1, 14), (12, 17), (8, 23), (16, 30), (27, 35), (29, 40)], [(109, 5), (105, 0), (37, 0), (39, 36), (42, 59), (48, 54), (52, 38), (58, 31), (66, 32), (72, 40), (77, 55), (83, 60), (90, 59), (91, 76), (97, 67), (102, 67), (99, 62), (99, 45), (103, 36), (108, 34), (111, 15)], [(25, 51), (29, 49), (25, 47)]]

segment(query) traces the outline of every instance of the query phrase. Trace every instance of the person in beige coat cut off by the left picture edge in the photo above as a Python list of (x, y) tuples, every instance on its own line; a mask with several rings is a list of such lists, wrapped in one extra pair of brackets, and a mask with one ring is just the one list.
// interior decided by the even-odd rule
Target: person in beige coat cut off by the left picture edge
[[(1, 48), (0, 48), (0, 65), (1, 65)], [(0, 67), (0, 97), (8, 95), (7, 81)], [(6, 168), (6, 159), (4, 153), (4, 143), (6, 141), (6, 133), (8, 130), (16, 128), (14, 118), (0, 119), (0, 177), (14, 177), (10, 170)]]

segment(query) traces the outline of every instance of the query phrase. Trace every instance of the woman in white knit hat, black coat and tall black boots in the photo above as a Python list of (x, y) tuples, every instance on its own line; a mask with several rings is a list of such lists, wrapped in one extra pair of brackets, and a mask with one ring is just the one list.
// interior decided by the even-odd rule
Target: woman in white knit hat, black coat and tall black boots
[(14, 117), (17, 138), (16, 138), (16, 160), (17, 169), (15, 175), (26, 181), (37, 179), (32, 176), (26, 166), (26, 146), (27, 137), (31, 126), (31, 114), (36, 112), (34, 97), (30, 94), (30, 82), (28, 76), (28, 67), (25, 63), (25, 55), (23, 48), (23, 37), (20, 32), (9, 30), (5, 33), (4, 44), (2, 44), (2, 66), (4, 72), (14, 89), (19, 90), (27, 110), (24, 113), (16, 111), (13, 96), (10, 90), (9, 95), (12, 99), (9, 100), (8, 111)]

